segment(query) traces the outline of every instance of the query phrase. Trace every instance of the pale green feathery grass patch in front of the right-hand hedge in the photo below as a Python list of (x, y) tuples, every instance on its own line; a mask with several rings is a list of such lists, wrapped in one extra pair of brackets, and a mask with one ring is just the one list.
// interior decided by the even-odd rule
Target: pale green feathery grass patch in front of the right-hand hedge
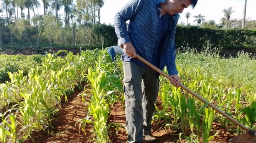
[[(189, 47), (177, 52), (176, 65), (183, 69), (201, 69), (200, 72), (223, 78), (225, 87), (239, 88), (256, 86), (256, 57), (250, 53), (239, 52), (237, 57), (219, 56), (220, 49), (203, 48), (199, 53)], [(182, 75), (182, 73), (181, 73)]]

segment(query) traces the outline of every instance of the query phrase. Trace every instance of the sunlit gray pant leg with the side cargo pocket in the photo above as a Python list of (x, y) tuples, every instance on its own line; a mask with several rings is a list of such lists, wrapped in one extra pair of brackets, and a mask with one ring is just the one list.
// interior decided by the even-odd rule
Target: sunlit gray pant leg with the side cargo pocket
[(141, 82), (146, 68), (130, 61), (124, 61), (123, 68), (127, 141), (144, 143)]

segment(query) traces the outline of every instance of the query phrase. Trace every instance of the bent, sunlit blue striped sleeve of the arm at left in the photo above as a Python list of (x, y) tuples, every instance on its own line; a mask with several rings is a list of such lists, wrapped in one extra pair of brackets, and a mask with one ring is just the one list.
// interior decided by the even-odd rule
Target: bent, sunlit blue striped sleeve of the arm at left
[(118, 37), (118, 46), (131, 42), (126, 30), (126, 21), (140, 12), (145, 0), (131, 0), (114, 16), (114, 27)]

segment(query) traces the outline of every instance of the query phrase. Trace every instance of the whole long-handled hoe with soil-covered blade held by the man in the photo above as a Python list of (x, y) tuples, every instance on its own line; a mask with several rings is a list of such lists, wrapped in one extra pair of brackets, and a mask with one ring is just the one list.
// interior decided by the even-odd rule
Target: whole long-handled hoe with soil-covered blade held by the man
[[(164, 73), (163, 71), (161, 71), (159, 68), (157, 68), (156, 66), (152, 65), (150, 62), (148, 62), (147, 60), (143, 59), (141, 56), (136, 55), (136, 58), (141, 60), (142, 62), (144, 62), (146, 65), (148, 65), (149, 67), (153, 68), (154, 70), (156, 70), (158, 73), (160, 73), (161, 75), (163, 75), (164, 77), (168, 78), (169, 80), (172, 80), (173, 78), (171, 78), (170, 76), (168, 76), (166, 73)], [(238, 136), (233, 137), (232, 139), (230, 139), (229, 141), (231, 143), (256, 143), (256, 139), (255, 139), (255, 130), (251, 130), (249, 128), (247, 128), (246, 126), (244, 126), (243, 124), (239, 123), (237, 120), (235, 120), (234, 118), (230, 117), (228, 114), (224, 113), (223, 111), (221, 111), (219, 108), (217, 108), (216, 106), (212, 105), (210, 102), (208, 102), (207, 100), (203, 99), (203, 97), (197, 95), (195, 92), (191, 91), (189, 88), (185, 87), (183, 84), (180, 84), (180, 87), (184, 90), (186, 90), (187, 92), (189, 92), (190, 94), (192, 94), (193, 96), (195, 96), (197, 99), (201, 100), (204, 103), (208, 103), (209, 107), (212, 107), (213, 109), (215, 109), (218, 113), (222, 114), (224, 117), (226, 117), (227, 119), (229, 119), (230, 121), (232, 121), (233, 123), (235, 123), (236, 125), (238, 125), (239, 127), (241, 127), (242, 129), (244, 129), (247, 133), (245, 134), (241, 134)]]

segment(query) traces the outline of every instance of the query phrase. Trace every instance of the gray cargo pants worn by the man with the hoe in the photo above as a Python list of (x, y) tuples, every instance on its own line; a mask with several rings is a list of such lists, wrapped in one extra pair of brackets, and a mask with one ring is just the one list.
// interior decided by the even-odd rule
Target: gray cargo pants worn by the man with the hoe
[(143, 132), (151, 132), (159, 89), (159, 73), (152, 68), (124, 61), (124, 95), (128, 143), (144, 143)]

